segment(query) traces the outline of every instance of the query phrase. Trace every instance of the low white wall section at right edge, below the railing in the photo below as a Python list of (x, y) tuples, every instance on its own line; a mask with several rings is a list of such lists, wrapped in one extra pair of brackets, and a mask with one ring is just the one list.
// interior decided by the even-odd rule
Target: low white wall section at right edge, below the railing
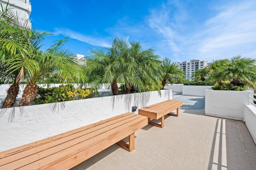
[(244, 121), (256, 143), (256, 107), (253, 105), (244, 105)]

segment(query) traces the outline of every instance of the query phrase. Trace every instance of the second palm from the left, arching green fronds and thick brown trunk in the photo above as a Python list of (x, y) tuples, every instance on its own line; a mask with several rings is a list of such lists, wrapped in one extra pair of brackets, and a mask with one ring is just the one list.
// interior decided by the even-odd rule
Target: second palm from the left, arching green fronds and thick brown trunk
[[(79, 66), (76, 57), (63, 47), (63, 43), (66, 41), (66, 39), (60, 40), (54, 45), (51, 45), (46, 51), (34, 53), (33, 57), (23, 58), (15, 56), (7, 61), (7, 64), (11, 66), (10, 70), (22, 69), (27, 62), (33, 63), (29, 65), (28, 74), (22, 73), (28, 84), (24, 89), (18, 106), (30, 105), (30, 102), (34, 100), (38, 92), (37, 82), (42, 81), (48, 74), (57, 73), (58, 79), (64, 83), (86, 82), (86, 76)], [(22, 76), (21, 78), (23, 78)]]

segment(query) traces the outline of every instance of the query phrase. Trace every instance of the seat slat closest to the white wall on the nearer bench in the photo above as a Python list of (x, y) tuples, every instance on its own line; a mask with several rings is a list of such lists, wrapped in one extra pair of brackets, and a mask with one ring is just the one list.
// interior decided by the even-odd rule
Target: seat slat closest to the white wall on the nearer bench
[(66, 137), (66, 136), (69, 136), (69, 135), (72, 135), (74, 133), (78, 133), (80, 131), (84, 131), (84, 130), (87, 130), (87, 129), (90, 129), (92, 127), (95, 127), (95, 126), (98, 126), (98, 125), (102, 125), (102, 124), (105, 124), (107, 122), (110, 122), (110, 121), (113, 121), (115, 119), (119, 119), (121, 117), (124, 117), (126, 115), (130, 115), (131, 113), (124, 113), (122, 115), (118, 115), (118, 116), (115, 116), (115, 117), (112, 117), (112, 118), (109, 118), (109, 119), (105, 119), (105, 120), (102, 120), (102, 121), (98, 121), (96, 123), (93, 123), (93, 124), (90, 124), (90, 125), (87, 125), (87, 126), (84, 126), (84, 127), (80, 127), (78, 129), (74, 129), (72, 131), (68, 131), (68, 132), (65, 132), (65, 133), (61, 133), (59, 135), (56, 135), (56, 136), (53, 136), (53, 137), (48, 137), (46, 139), (42, 139), (40, 141), (36, 141), (36, 142), (33, 142), (33, 143), (29, 143), (27, 145), (23, 145), (23, 146), (20, 146), (20, 147), (16, 147), (14, 149), (10, 149), (10, 150), (6, 150), (6, 151), (3, 151), (3, 152), (0, 152), (0, 159), (3, 158), (3, 157), (6, 157), (6, 156), (10, 156), (10, 155), (13, 155), (13, 154), (16, 154), (18, 152), (22, 152), (24, 150), (27, 150), (27, 149), (30, 149), (34, 146), (39, 146), (39, 145), (44, 145), (45, 143), (49, 143), (49, 142), (52, 142), (54, 140), (58, 140), (60, 138), (63, 138), (63, 137)]

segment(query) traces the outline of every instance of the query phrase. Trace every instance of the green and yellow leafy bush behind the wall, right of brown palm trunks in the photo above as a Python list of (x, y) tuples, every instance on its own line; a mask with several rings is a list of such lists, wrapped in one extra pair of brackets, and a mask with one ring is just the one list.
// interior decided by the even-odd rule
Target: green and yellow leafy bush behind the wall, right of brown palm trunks
[(55, 102), (65, 102), (71, 100), (79, 100), (85, 98), (92, 98), (96, 96), (97, 92), (89, 88), (75, 89), (72, 84), (60, 85), (59, 87), (40, 88), (38, 87), (38, 94), (34, 100), (35, 104), (47, 104)]

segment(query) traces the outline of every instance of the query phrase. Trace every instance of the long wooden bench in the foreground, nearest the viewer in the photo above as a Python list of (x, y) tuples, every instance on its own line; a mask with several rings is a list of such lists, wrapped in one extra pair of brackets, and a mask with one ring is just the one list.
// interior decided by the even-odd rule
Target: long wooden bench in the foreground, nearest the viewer
[[(0, 152), (0, 170), (66, 170), (117, 143), (134, 149), (134, 132), (147, 117), (125, 113), (41, 141)], [(122, 139), (129, 136), (129, 144)]]

